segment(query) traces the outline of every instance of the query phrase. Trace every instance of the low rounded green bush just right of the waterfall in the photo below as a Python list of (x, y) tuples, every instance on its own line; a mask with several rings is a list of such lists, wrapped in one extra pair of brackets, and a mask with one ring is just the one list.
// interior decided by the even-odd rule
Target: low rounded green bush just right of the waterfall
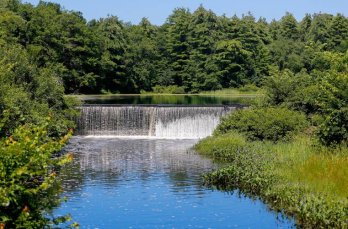
[(307, 126), (304, 114), (287, 108), (238, 110), (223, 119), (214, 134), (238, 131), (249, 140), (286, 140)]

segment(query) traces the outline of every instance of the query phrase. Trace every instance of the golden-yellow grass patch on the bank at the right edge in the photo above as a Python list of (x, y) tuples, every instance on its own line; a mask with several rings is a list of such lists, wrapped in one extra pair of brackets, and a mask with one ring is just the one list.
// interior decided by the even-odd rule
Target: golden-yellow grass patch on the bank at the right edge
[[(295, 150), (301, 150), (294, 146)], [(294, 149), (292, 149), (294, 150)], [(348, 197), (348, 150), (339, 154), (315, 152), (315, 149), (289, 155), (280, 163), (279, 174), (294, 184), (306, 187), (313, 193), (325, 194), (332, 199)], [(283, 156), (284, 157), (284, 156)], [(284, 163), (291, 161), (291, 164)]]

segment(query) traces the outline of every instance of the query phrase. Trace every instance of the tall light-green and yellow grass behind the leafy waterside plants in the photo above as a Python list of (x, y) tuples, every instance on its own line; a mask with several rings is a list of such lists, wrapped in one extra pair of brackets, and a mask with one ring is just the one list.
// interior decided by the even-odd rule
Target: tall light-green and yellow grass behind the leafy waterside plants
[(306, 136), (273, 146), (277, 174), (294, 185), (332, 199), (348, 198), (348, 148), (315, 146)]

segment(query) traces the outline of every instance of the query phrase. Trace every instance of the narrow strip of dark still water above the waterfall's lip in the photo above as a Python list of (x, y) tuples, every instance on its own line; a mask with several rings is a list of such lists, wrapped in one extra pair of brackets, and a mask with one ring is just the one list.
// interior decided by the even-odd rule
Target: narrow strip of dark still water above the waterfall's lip
[(177, 105), (230, 105), (250, 104), (255, 96), (211, 95), (81, 95), (85, 104), (177, 104)]

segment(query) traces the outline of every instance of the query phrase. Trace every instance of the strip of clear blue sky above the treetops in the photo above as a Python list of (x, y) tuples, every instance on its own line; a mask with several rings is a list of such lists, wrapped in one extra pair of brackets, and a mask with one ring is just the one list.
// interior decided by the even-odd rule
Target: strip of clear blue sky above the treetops
[[(39, 0), (23, 0), (36, 5)], [(348, 0), (50, 0), (67, 10), (81, 11), (85, 18), (98, 19), (107, 15), (118, 16), (125, 22), (137, 24), (147, 17), (160, 25), (176, 7), (195, 10), (200, 4), (218, 15), (232, 16), (251, 12), (256, 18), (267, 20), (281, 18), (291, 12), (297, 19), (305, 13), (343, 13), (348, 16)]]

